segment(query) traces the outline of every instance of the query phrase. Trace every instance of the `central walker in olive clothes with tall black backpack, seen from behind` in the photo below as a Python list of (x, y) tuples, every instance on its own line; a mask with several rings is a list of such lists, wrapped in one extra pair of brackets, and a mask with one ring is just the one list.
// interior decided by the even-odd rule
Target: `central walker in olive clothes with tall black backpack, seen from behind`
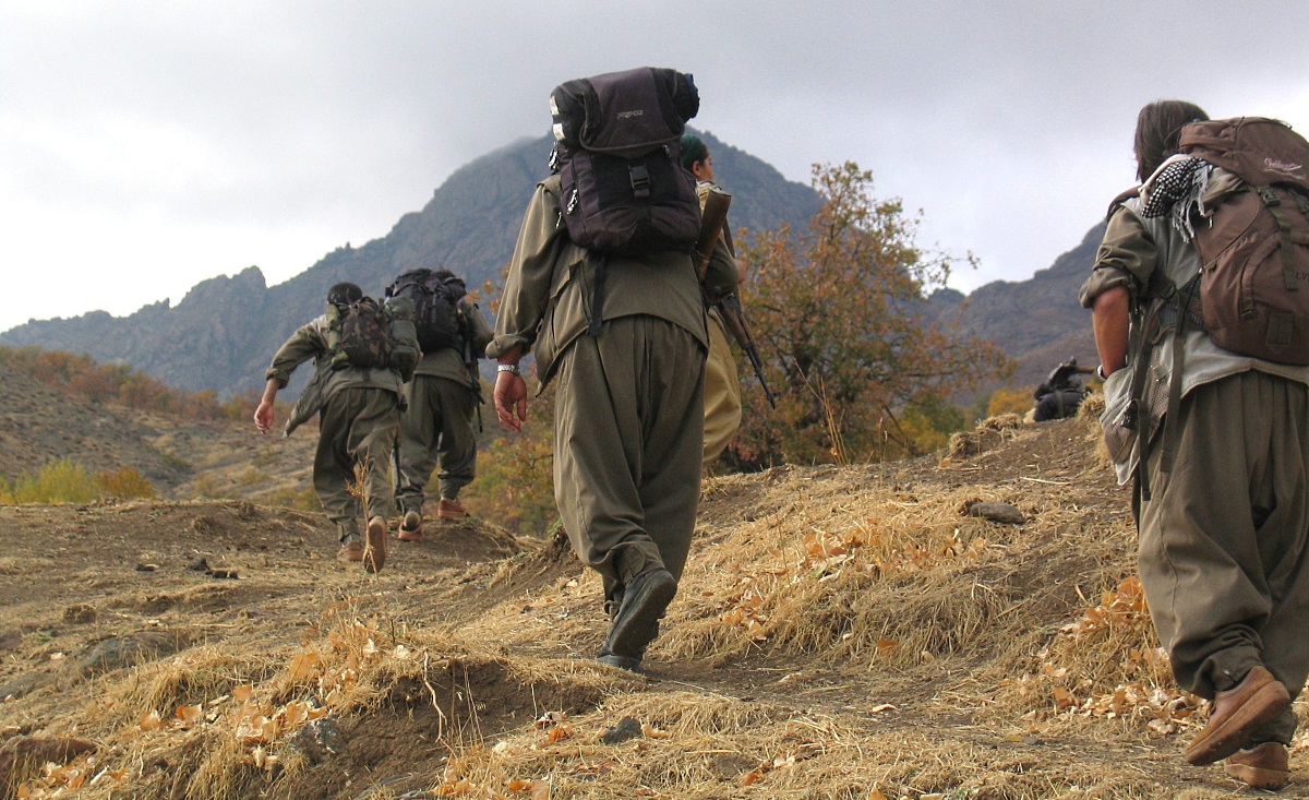
[[(614, 106), (634, 113), (606, 114)], [(698, 106), (690, 76), (670, 69), (551, 93), (556, 172), (528, 203), (487, 347), (499, 361), (496, 415), (509, 429), (528, 419), (520, 359), (529, 350), (542, 389), (555, 384), (559, 516), (573, 553), (603, 579), (610, 625), (597, 657), (630, 670), (677, 593), (700, 494), (708, 331), (690, 255), (699, 202), (678, 153)], [(580, 124), (586, 107), (602, 118), (593, 127)], [(630, 157), (586, 149), (600, 139)], [(613, 191), (594, 191), (590, 175), (614, 177)], [(589, 207), (597, 198), (614, 206)]]

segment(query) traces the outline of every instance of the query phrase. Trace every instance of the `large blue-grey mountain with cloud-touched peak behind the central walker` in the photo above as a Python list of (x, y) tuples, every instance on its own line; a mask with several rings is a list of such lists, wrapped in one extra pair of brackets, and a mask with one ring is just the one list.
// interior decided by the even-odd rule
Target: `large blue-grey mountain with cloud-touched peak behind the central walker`
[[(702, 134), (719, 178), (733, 192), (732, 224), (754, 230), (804, 225), (818, 207), (808, 186)], [(465, 165), (420, 212), (361, 247), (338, 247), (291, 280), (268, 287), (258, 267), (196, 284), (177, 305), (161, 301), (127, 317), (92, 312), (34, 321), (0, 334), (0, 344), (35, 344), (126, 363), (170, 386), (228, 395), (263, 384), (263, 371), (288, 335), (322, 312), (327, 287), (352, 280), (381, 293), (397, 274), (444, 266), (470, 288), (499, 283), (513, 251), (533, 186), (547, 174), (548, 136), (521, 140)], [(304, 371), (301, 371), (304, 372)], [(305, 376), (297, 376), (300, 381)]]

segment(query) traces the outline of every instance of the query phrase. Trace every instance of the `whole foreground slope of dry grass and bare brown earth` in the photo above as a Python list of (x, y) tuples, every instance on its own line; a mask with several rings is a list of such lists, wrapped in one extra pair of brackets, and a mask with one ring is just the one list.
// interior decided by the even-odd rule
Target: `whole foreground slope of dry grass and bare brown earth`
[[(0, 792), (1242, 793), (1181, 759), (1203, 704), (1156, 655), (1092, 420), (707, 481), (644, 674), (592, 659), (600, 581), (560, 541), (446, 524), (368, 576), (321, 515), (259, 499), (289, 453), (228, 435), (188, 479), (212, 460), (247, 499), (0, 507)], [(1282, 796), (1309, 795), (1296, 744)]]

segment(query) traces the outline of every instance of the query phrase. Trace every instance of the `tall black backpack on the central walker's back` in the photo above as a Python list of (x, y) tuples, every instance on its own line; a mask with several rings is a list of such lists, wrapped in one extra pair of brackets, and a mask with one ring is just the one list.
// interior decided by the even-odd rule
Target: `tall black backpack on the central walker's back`
[(607, 72), (550, 93), (550, 166), (575, 244), (606, 254), (695, 247), (700, 203), (681, 136), (699, 107), (691, 76), (666, 68)]

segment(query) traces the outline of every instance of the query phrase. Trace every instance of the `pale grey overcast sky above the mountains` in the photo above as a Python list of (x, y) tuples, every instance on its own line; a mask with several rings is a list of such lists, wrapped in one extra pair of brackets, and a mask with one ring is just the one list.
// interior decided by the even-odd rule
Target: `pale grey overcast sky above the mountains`
[(872, 169), (978, 257), (956, 288), (1025, 280), (1131, 183), (1143, 103), (1309, 131), (1306, 30), (1304, 0), (0, 0), (0, 331), (281, 283), (641, 64), (791, 179)]

